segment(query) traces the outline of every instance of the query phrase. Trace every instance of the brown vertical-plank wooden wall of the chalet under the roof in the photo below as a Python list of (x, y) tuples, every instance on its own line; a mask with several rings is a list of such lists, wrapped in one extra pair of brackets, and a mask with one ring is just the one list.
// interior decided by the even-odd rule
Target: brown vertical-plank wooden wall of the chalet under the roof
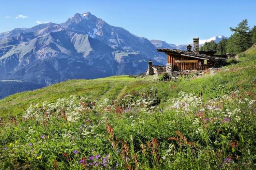
[(208, 59), (192, 58), (171, 53), (167, 54), (167, 63), (172, 64), (173, 71), (204, 70), (214, 66), (214, 62)]

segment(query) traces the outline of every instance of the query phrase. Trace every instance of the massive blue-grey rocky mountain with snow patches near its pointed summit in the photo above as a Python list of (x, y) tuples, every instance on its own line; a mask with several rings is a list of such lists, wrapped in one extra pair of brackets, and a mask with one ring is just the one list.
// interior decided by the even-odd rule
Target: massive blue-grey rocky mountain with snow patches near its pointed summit
[[(77, 13), (60, 24), (16, 28), (0, 34), (0, 81), (16, 81), (2, 82), (5, 87), (0, 88), (0, 95), (24, 91), (26, 88), (18, 88), (24, 84), (31, 85), (27, 88), (31, 90), (69, 79), (144, 73), (148, 60), (166, 64), (165, 54), (157, 48), (185, 46), (136, 36), (90, 12)], [(6, 90), (14, 87), (17, 89)]]

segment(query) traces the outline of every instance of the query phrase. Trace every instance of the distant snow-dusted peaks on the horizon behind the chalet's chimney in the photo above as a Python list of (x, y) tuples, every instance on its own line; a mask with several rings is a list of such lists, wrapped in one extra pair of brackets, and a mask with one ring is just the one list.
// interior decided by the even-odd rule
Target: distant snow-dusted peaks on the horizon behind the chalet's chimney
[[(215, 43), (218, 43), (219, 41), (221, 41), (224, 38), (227, 39), (227, 37), (225, 37), (224, 35), (214, 36), (214, 37), (211, 37), (211, 38), (208, 38), (208, 39), (199, 39), (199, 46), (202, 46), (204, 43), (210, 42), (212, 40)], [(150, 41), (156, 48), (169, 48), (169, 49), (177, 49), (177, 50), (186, 50), (186, 46), (187, 46), (187, 44), (181, 44), (181, 45), (176, 46), (175, 44), (169, 44), (169, 43), (166, 43), (166, 41), (155, 40), (155, 39), (152, 39)], [(192, 43), (190, 45), (192, 45)]]

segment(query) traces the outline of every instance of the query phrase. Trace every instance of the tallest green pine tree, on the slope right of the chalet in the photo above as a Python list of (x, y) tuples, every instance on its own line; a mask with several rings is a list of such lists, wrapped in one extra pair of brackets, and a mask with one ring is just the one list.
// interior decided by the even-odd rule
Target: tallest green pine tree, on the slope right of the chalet
[(236, 28), (230, 27), (230, 30), (234, 33), (228, 39), (227, 52), (239, 53), (252, 46), (250, 27), (248, 26), (247, 19), (240, 22)]

